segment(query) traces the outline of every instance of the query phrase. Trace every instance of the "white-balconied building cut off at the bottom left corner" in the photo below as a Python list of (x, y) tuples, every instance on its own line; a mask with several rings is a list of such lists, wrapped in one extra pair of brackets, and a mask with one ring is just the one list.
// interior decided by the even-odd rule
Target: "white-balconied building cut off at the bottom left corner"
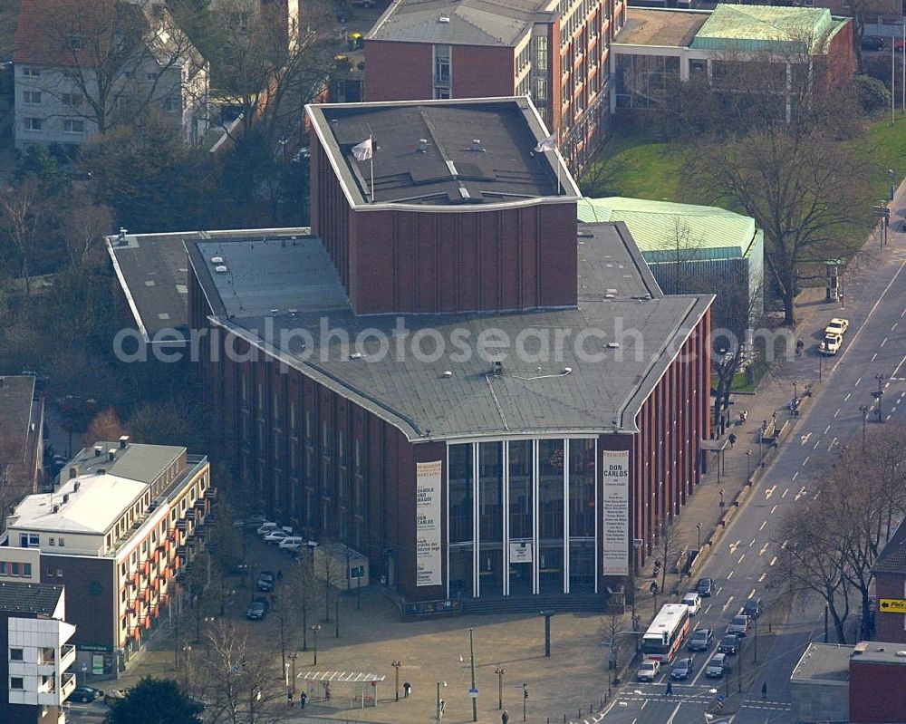
[[(5, 550), (0, 550), (0, 559)], [(63, 701), (75, 689), (75, 632), (64, 621), (62, 585), (4, 580), (0, 575), (0, 721), (65, 724)]]

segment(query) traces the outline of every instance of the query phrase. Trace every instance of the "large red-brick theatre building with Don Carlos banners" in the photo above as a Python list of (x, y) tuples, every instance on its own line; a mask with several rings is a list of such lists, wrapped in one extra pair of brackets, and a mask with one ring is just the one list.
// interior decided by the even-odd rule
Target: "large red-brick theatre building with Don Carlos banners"
[(217, 449), (404, 605), (600, 606), (699, 481), (712, 297), (578, 224), (528, 99), (308, 115), (310, 235), (186, 235)]

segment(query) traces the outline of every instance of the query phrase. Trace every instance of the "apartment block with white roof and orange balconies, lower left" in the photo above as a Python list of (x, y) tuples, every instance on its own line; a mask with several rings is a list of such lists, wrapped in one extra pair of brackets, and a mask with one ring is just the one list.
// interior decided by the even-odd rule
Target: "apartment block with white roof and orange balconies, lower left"
[(60, 479), (15, 508), (6, 536), (40, 550), (43, 583), (67, 585), (79, 665), (110, 676), (140, 650), (203, 545), (207, 457), (124, 436), (83, 449)]

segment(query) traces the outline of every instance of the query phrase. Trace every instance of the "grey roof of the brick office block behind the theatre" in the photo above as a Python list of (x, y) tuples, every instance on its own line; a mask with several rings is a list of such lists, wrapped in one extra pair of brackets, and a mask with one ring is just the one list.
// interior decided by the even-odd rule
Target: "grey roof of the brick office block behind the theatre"
[(515, 45), (535, 22), (551, 22), (551, 0), (396, 0), (366, 41)]

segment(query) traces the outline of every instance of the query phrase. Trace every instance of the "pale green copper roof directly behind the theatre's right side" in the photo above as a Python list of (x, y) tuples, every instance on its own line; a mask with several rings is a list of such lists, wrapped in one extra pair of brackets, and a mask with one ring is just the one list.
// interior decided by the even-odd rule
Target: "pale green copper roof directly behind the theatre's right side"
[(724, 208), (650, 201), (645, 198), (582, 198), (580, 221), (622, 221), (649, 263), (670, 261), (678, 247), (688, 259), (748, 256), (756, 240), (755, 219)]

